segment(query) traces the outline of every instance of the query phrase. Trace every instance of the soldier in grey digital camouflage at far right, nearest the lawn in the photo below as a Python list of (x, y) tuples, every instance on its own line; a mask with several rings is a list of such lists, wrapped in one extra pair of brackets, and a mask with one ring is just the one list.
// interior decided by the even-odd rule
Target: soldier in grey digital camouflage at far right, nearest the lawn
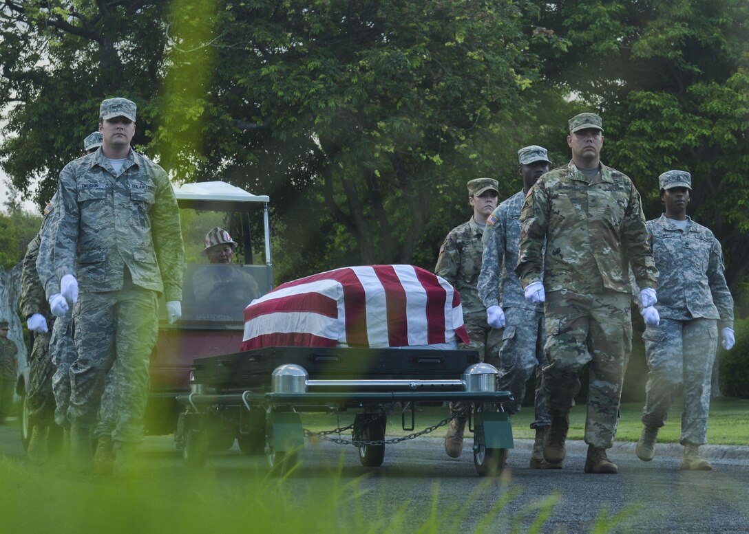
[(710, 470), (698, 447), (706, 443), (710, 380), (718, 331), (733, 347), (733, 297), (724, 276), (723, 251), (712, 232), (688, 217), (692, 188), (687, 171), (658, 177), (665, 213), (647, 222), (648, 243), (658, 268), (660, 324), (643, 334), (648, 363), (643, 432), (635, 451), (644, 461), (655, 455), (658, 429), (683, 388), (682, 469)]

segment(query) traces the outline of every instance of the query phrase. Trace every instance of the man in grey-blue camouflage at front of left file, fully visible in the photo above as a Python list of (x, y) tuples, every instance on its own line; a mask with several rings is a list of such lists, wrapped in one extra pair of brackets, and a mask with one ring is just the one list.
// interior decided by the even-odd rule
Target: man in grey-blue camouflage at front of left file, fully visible
[(103, 145), (61, 171), (49, 235), (61, 295), (75, 304), (78, 357), (70, 366), (67, 419), (71, 460), (83, 471), (93, 467), (91, 430), (115, 358), (115, 467), (132, 465), (142, 439), (158, 296), (166, 298), (170, 322), (181, 316), (185, 259), (177, 201), (166, 172), (131, 149), (135, 120), (130, 100), (101, 103)]

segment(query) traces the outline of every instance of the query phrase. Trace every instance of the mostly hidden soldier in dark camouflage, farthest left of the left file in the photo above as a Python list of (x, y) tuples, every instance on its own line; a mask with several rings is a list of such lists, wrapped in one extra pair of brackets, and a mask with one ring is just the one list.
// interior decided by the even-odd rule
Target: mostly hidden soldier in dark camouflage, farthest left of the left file
[(49, 357), (49, 340), (55, 316), (49, 310), (44, 288), (37, 274), (37, 257), (43, 228), (49, 223), (49, 212), (44, 212), (42, 229), (28, 244), (21, 270), (21, 316), (27, 319), (28, 331), (33, 333), (31, 355), (28, 358), (29, 385), (26, 396), (28, 426), (31, 438), (26, 453), (35, 464), (42, 464), (47, 456), (47, 436), (54, 423), (55, 396), (52, 375), (55, 366)]

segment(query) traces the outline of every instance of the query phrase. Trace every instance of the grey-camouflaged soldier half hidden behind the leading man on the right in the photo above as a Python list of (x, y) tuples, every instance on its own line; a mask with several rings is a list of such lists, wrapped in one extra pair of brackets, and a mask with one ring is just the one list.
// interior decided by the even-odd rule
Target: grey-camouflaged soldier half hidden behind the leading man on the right
[(513, 269), (518, 264), (520, 243), (520, 212), (525, 196), (536, 180), (549, 170), (548, 152), (531, 145), (518, 150), (523, 189), (500, 203), (486, 221), (483, 236), (484, 256), (479, 275), (479, 297), (487, 310), (492, 328), (504, 328), (500, 349), (500, 376), (497, 390), (509, 391), (515, 399), (506, 405), (510, 414), (517, 414), (525, 398), (525, 384), (536, 372), (536, 429), (532, 469), (562, 467), (544, 459), (543, 438), (551, 423), (542, 389), (541, 367), (544, 355), (544, 307), (525, 299), (523, 286)]

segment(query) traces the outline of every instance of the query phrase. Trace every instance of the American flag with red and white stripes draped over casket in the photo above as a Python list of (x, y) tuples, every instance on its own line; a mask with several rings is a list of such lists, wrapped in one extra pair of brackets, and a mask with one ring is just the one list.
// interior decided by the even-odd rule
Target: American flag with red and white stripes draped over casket
[(244, 310), (243, 351), (468, 343), (461, 297), (410, 265), (337, 268), (282, 283)]

